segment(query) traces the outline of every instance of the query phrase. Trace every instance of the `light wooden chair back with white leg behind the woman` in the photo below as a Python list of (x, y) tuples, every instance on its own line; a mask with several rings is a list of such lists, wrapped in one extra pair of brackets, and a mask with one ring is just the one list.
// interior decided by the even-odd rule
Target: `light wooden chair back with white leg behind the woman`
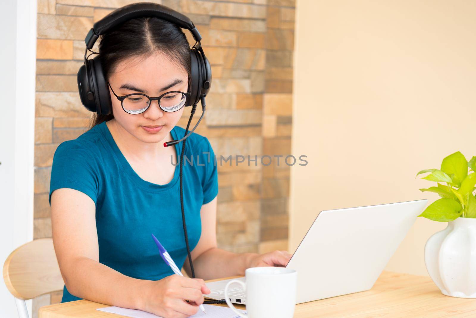
[(15, 297), (18, 315), (28, 318), (25, 300), (63, 289), (52, 239), (35, 239), (10, 253), (3, 280)]

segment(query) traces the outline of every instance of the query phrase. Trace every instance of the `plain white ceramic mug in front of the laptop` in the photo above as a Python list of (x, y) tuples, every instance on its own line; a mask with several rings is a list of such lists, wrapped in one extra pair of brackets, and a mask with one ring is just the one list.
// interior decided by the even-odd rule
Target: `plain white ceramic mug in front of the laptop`
[[(246, 283), (231, 280), (225, 286), (228, 307), (242, 318), (292, 318), (296, 306), (297, 272), (284, 267), (252, 267), (245, 270)], [(228, 297), (228, 287), (240, 284), (246, 294), (247, 315), (238, 312)]]

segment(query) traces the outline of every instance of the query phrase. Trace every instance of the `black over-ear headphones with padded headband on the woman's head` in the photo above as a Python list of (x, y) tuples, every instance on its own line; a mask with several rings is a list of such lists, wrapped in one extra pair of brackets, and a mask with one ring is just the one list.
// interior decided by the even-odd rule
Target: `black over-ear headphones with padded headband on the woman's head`
[[(180, 28), (188, 29), (197, 41), (190, 48), (191, 79), (189, 79), (190, 96), (185, 106), (197, 105), (201, 97), (205, 97), (211, 86), (211, 68), (200, 44), (202, 39), (193, 22), (180, 12), (172, 10), (158, 3), (139, 2), (121, 7), (101, 20), (94, 23), (84, 39), (86, 50), (84, 64), (78, 71), (78, 89), (81, 103), (98, 115), (109, 115), (112, 111), (111, 98), (107, 80), (102, 71), (99, 55), (88, 60), (86, 53), (91, 50), (99, 36), (113, 29), (117, 25), (134, 18), (157, 17), (177, 24)], [(92, 52), (92, 51), (91, 51)], [(95, 52), (93, 52), (95, 53)]]

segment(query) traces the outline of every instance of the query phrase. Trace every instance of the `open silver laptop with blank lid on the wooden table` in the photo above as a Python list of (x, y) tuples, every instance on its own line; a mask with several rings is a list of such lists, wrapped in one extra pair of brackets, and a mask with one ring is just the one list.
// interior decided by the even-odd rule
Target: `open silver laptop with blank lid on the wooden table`
[[(372, 288), (427, 201), (319, 213), (286, 266), (297, 270), (296, 303)], [(207, 283), (205, 298), (223, 299), (229, 280)], [(233, 303), (246, 304), (239, 286), (231, 285), (228, 294)]]

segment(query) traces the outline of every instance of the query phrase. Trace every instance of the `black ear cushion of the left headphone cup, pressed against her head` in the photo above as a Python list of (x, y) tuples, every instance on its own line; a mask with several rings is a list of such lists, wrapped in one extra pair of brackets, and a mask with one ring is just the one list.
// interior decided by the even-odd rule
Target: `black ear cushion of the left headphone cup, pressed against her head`
[(96, 55), (94, 59), (89, 60), (91, 64), (91, 73), (94, 76), (91, 77), (94, 87), (94, 97), (96, 98), (96, 105), (99, 115), (109, 115), (112, 111), (111, 96), (109, 94), (109, 86), (104, 72), (101, 66), (101, 60), (99, 55)]

